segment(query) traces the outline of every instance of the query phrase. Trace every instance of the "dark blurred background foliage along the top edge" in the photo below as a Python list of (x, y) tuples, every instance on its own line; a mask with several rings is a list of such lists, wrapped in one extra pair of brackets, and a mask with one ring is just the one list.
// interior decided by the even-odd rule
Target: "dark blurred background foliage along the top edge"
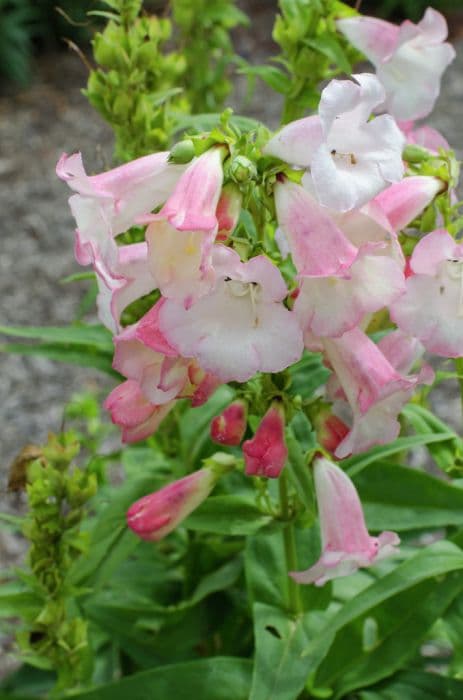
[[(277, 0), (242, 0), (247, 12)], [(354, 5), (354, 0), (352, 0)], [(463, 0), (363, 0), (363, 14), (400, 21), (419, 20), (432, 5), (442, 12), (463, 10)], [(144, 3), (148, 12), (164, 12), (166, 2)], [(33, 77), (33, 59), (43, 52), (64, 49), (71, 41), (85, 52), (101, 18), (88, 12), (103, 9), (99, 0), (0, 0), (0, 80), (27, 86)]]

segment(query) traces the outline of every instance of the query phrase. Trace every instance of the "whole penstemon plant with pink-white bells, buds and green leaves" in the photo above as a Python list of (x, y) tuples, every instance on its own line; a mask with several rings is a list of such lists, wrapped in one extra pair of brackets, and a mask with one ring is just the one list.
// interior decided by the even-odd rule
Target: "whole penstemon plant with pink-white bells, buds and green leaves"
[[(138, 9), (111, 32), (129, 36)], [(463, 442), (429, 404), (441, 381), (463, 387), (459, 165), (416, 123), (454, 58), (446, 22), (282, 0), (275, 37), (289, 86), (276, 133), (226, 110), (101, 174), (59, 160), (107, 329), (68, 342), (108, 369), (111, 334), (122, 381), (104, 407), (125, 480), (100, 474), (88, 502), (85, 487), (85, 546), (60, 549), (79, 664), (60, 673), (49, 627), (25, 658), (57, 674), (55, 695), (463, 694)], [(376, 73), (318, 92), (360, 54)], [(127, 129), (121, 160), (144, 135)], [(409, 466), (417, 447), (445, 478)], [(46, 469), (30, 465), (31, 493)]]

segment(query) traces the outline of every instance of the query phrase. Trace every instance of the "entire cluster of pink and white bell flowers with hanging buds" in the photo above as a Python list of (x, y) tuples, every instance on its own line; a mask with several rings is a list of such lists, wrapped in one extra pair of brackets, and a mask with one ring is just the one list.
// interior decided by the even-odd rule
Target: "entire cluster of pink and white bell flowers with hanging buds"
[[(403, 246), (404, 230), (436, 197), (451, 201), (450, 178), (413, 171), (403, 155), (407, 143), (425, 147), (424, 157), (447, 146), (411, 121), (429, 113), (453, 58), (445, 20), (428, 10), (417, 25), (363, 17), (340, 20), (339, 29), (376, 75), (332, 80), (317, 115), (265, 143), (216, 131), (192, 137), (187, 157), (174, 148), (95, 176), (80, 155), (61, 158), (58, 175), (76, 192), (76, 257), (96, 272), (100, 318), (114, 333), (114, 368), (125, 377), (106, 400), (125, 442), (156, 431), (179, 399), (201, 405), (220, 384), (282, 372), (307, 349), (331, 370), (325, 433), (343, 458), (397, 437), (402, 406), (433, 379), (422, 364), (410, 374), (425, 349), (463, 355), (463, 246), (445, 219)], [(247, 240), (243, 209), (256, 230)], [(132, 226), (145, 227), (143, 239), (120, 245)], [(148, 312), (124, 326), (124, 309), (154, 290)], [(368, 329), (381, 314), (386, 333), (375, 342)], [(243, 440), (245, 396), (214, 419), (219, 444)], [(287, 457), (284, 399), (270, 397), (264, 413), (242, 451), (247, 474), (275, 478)], [(151, 539), (170, 531), (197, 505), (203, 475), (172, 486), (167, 500), (143, 501), (129, 524), (143, 522)], [(201, 498), (212, 488), (206, 476)], [(393, 533), (369, 537), (338, 467), (317, 461), (315, 485), (320, 517), (332, 526), (322, 526), (321, 563), (296, 580), (321, 583), (393, 549)], [(164, 512), (171, 496), (175, 512)]]

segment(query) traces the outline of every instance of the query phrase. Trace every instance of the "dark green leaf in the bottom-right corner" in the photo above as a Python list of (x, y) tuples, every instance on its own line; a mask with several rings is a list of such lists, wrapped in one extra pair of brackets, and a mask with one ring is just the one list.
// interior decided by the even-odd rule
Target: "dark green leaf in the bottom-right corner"
[(463, 682), (437, 673), (405, 671), (360, 691), (359, 700), (460, 700)]

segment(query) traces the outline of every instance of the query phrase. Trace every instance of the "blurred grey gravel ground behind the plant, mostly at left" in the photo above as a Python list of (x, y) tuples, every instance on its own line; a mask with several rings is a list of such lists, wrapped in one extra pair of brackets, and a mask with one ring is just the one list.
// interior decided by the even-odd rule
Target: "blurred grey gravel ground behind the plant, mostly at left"
[[(253, 34), (239, 37), (240, 52), (258, 63), (271, 47), (272, 12), (265, 3), (253, 8)], [(428, 123), (441, 130), (463, 155), (463, 40), (445, 75), (438, 106)], [(109, 128), (88, 105), (80, 89), (86, 69), (74, 54), (40, 61), (37, 79), (26, 92), (0, 93), (0, 295), (5, 325), (66, 324), (75, 317), (82, 287), (60, 279), (78, 271), (73, 258), (73, 220), (68, 191), (55, 176), (63, 151), (81, 150), (88, 172), (111, 162)], [(238, 85), (243, 95), (244, 85)], [(276, 125), (278, 101), (265, 88), (246, 112)], [(73, 392), (85, 387), (102, 392), (111, 380), (94, 371), (51, 361), (0, 354), (0, 510), (14, 512), (21, 499), (5, 493), (8, 466), (26, 443), (42, 442), (59, 430), (62, 408)], [(455, 388), (436, 392), (439, 414), (461, 425)], [(18, 561), (22, 543), (0, 532), (0, 568)], [(0, 664), (0, 675), (5, 665)]]

